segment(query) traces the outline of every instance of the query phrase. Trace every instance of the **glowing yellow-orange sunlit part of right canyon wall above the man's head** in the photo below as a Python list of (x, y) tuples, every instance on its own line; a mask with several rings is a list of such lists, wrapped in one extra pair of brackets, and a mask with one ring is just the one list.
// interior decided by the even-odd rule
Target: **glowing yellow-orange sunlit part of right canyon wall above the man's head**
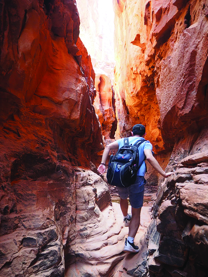
[[(164, 142), (157, 127), (160, 111), (155, 94), (152, 64), (145, 65), (144, 50), (135, 43), (141, 28), (146, 30), (141, 16), (143, 1), (114, 1), (115, 11), (115, 77), (114, 89), (119, 100), (119, 133), (125, 136), (136, 123), (146, 125), (147, 136), (154, 151), (164, 150)], [(152, 67), (152, 68), (151, 68)]]

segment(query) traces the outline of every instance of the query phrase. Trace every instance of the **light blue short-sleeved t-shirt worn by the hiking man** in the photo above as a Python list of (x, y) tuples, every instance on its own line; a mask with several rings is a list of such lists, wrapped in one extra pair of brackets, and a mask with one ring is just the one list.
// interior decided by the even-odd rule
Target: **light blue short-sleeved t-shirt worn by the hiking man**
[[(119, 145), (119, 149), (124, 146), (124, 140), (125, 139), (126, 138), (124, 137), (122, 139), (116, 140), (116, 142)], [(137, 142), (139, 140), (143, 140), (143, 137), (129, 137), (129, 144), (133, 145), (135, 142)], [(138, 150), (139, 150), (139, 164), (141, 164), (141, 163), (142, 164), (141, 164), (141, 167), (139, 168), (139, 170), (137, 171), (137, 175), (138, 176), (143, 176), (143, 177), (145, 175), (145, 170), (146, 170), (146, 168), (145, 168), (145, 162), (144, 162), (144, 158), (145, 158), (144, 149), (150, 149), (150, 150), (152, 150), (152, 144), (149, 142), (149, 140), (144, 141), (138, 147)], [(154, 154), (153, 151), (152, 151), (152, 154)]]

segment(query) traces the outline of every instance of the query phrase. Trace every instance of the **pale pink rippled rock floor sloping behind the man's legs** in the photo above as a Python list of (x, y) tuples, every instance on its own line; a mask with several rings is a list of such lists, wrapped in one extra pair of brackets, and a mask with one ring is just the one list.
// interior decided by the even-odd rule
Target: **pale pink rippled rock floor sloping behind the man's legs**
[[(149, 207), (143, 207), (141, 211), (141, 226), (135, 237), (137, 244), (145, 233), (150, 222)], [(130, 207), (129, 207), (129, 213)], [(124, 227), (123, 216), (118, 203), (107, 206), (102, 210), (103, 218), (99, 227), (88, 225), (88, 235), (85, 239), (76, 238), (75, 253), (76, 262), (66, 272), (65, 277), (84, 276), (87, 272), (90, 276), (98, 277), (117, 272), (118, 263), (127, 253), (123, 252), (124, 238), (128, 234), (128, 228)], [(113, 270), (111, 271), (111, 269)], [(110, 272), (111, 271), (111, 272)], [(122, 270), (124, 273), (124, 271)]]

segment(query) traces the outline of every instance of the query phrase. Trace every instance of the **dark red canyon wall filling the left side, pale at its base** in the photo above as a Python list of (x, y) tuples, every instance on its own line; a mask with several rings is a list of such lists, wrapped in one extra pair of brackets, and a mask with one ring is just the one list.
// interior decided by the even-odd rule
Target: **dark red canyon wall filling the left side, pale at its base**
[[(0, 275), (63, 277), (89, 258), (82, 236), (99, 228), (113, 248), (125, 235), (110, 241), (114, 210), (91, 162), (103, 149), (94, 70), (74, 0), (1, 1), (0, 15)], [(119, 252), (102, 265), (94, 252), (95, 274)]]

